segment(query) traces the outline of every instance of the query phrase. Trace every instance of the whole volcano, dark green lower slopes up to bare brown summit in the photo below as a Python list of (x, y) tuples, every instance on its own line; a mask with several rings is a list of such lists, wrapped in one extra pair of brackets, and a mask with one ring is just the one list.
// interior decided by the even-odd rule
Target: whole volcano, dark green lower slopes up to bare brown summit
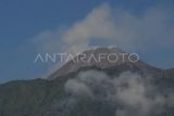
[(121, 57), (87, 62), (126, 53), (117, 48), (83, 53), (47, 79), (0, 85), (0, 116), (174, 116), (174, 69)]

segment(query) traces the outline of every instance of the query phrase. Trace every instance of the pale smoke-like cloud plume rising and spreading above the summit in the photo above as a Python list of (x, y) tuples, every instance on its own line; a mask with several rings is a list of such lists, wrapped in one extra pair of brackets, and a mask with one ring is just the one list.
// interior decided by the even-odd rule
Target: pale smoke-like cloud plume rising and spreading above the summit
[(67, 28), (39, 34), (35, 41), (46, 51), (61, 49), (72, 53), (89, 48), (92, 39), (107, 40), (111, 46), (134, 51), (154, 46), (166, 48), (174, 44), (174, 25), (171, 25), (174, 14), (171, 11), (153, 7), (137, 15), (104, 3)]

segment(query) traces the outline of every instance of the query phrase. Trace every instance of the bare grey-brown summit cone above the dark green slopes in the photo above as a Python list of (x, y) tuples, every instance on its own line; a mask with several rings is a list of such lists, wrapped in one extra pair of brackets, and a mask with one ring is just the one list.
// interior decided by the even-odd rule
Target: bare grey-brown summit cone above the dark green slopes
[[(85, 55), (84, 59), (82, 59), (83, 55)], [(144, 74), (151, 74), (151, 75), (157, 75), (158, 73), (161, 72), (161, 69), (150, 66), (141, 61), (133, 63), (128, 60), (128, 55), (129, 53), (126, 53), (119, 48), (97, 48), (95, 50), (94, 49), (87, 50), (84, 51), (80, 55), (75, 56), (74, 60), (69, 61), (60, 69), (52, 73), (48, 77), (48, 79), (52, 80), (60, 76), (77, 72), (78, 69), (92, 66), (99, 68), (122, 67), (123, 72), (137, 68), (144, 72)], [(99, 60), (99, 56), (102, 56), (103, 59)]]

